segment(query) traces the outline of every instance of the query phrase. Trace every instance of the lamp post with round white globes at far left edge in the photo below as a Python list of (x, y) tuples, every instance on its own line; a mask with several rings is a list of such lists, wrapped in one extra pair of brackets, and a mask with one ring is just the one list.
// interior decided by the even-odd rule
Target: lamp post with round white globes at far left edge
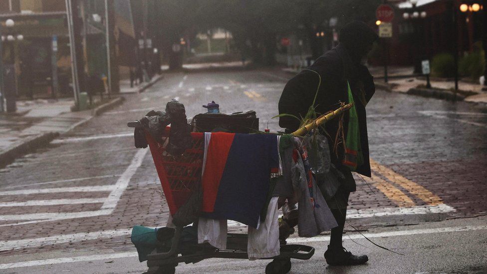
[[(23, 35), (22, 34), (14, 34), (11, 31), (11, 28), (15, 25), (15, 22), (12, 19), (5, 20), (6, 31), (1, 35), (0, 41), (0, 52), (1, 52), (1, 43), (8, 42), (12, 43), (10, 47), (10, 59), (11, 62), (5, 67), (3, 65), (3, 58), (0, 57), (0, 105), (1, 111), (3, 109), (3, 98), (5, 98), (6, 103), (6, 111), (7, 112), (15, 112), (17, 110), (16, 106), (16, 84), (15, 84), (15, 49), (14, 49), (14, 41), (22, 41)], [(5, 69), (6, 68), (6, 69)], [(6, 76), (6, 77), (5, 77)], [(7, 80), (8, 85), (5, 86), (5, 80)]]

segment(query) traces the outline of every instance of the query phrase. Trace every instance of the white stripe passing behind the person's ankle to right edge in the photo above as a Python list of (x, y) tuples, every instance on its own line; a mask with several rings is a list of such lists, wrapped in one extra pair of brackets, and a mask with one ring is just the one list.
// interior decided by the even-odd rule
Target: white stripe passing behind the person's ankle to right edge
[[(487, 229), (487, 226), (465, 226), (465, 227), (450, 227), (450, 228), (400, 230), (400, 231), (388, 231), (388, 232), (379, 232), (379, 233), (364, 233), (363, 235), (365, 235), (365, 237), (367, 238), (381, 238), (381, 237), (397, 237), (397, 236), (431, 234), (431, 233), (474, 231), (474, 230), (485, 230), (485, 229)], [(360, 238), (363, 238), (361, 234), (352, 234), (349, 235), (348, 237), (343, 237), (344, 240), (360, 239)], [(330, 241), (330, 236), (317, 236), (313, 238), (290, 238), (286, 240), (286, 242), (289, 244), (327, 242), (327, 241)]]

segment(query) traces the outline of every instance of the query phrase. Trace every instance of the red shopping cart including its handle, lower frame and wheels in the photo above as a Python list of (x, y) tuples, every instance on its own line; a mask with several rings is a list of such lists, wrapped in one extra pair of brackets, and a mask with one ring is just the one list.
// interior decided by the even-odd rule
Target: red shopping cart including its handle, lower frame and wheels
[[(140, 123), (130, 122), (129, 127), (140, 127)], [(193, 146), (181, 156), (167, 153), (170, 127), (160, 140), (156, 142), (150, 134), (146, 134), (157, 174), (171, 215), (174, 215), (188, 200), (192, 190), (201, 183), (201, 171), (204, 153), (204, 133), (192, 132)], [(174, 274), (179, 263), (197, 263), (209, 258), (248, 259), (247, 235), (228, 234), (227, 249), (216, 249), (208, 244), (180, 245), (183, 227), (176, 227), (169, 250), (155, 250), (148, 256), (148, 274)], [(314, 248), (303, 245), (281, 245), (280, 255), (273, 258), (265, 268), (265, 273), (284, 274), (291, 269), (290, 259), (308, 260), (314, 254)]]

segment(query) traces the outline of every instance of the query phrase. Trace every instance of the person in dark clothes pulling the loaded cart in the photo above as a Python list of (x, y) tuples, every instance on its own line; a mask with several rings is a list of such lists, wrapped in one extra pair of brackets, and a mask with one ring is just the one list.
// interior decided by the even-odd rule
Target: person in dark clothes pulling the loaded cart
[[(320, 56), (310, 67), (290, 79), (279, 99), (279, 114), (291, 114), (305, 117), (316, 96), (315, 111), (324, 114), (337, 109), (341, 102), (348, 103), (350, 85), (358, 116), (358, 131), (362, 163), (355, 172), (370, 177), (369, 146), (365, 106), (375, 92), (373, 77), (363, 65), (363, 60), (378, 38), (367, 24), (354, 21), (345, 25), (340, 31), (340, 43)], [(319, 74), (319, 76), (318, 76)], [(321, 83), (319, 83), (321, 77)], [(318, 89), (319, 85), (319, 89)], [(317, 93), (317, 94), (316, 94)], [(358, 265), (368, 261), (367, 256), (355, 256), (342, 247), (342, 235), (345, 224), (345, 213), (350, 192), (356, 190), (355, 180), (350, 169), (343, 164), (344, 149), (338, 144), (334, 149), (337, 131), (347, 132), (348, 113), (343, 117), (343, 131), (339, 130), (339, 119), (325, 124), (331, 152), (331, 162), (341, 177), (340, 185), (333, 197), (327, 200), (338, 227), (331, 230), (330, 245), (325, 252), (329, 265)], [(290, 116), (279, 118), (279, 126), (293, 132), (299, 127), (299, 121)], [(325, 182), (326, 184), (326, 182)], [(326, 198), (326, 195), (323, 193)]]

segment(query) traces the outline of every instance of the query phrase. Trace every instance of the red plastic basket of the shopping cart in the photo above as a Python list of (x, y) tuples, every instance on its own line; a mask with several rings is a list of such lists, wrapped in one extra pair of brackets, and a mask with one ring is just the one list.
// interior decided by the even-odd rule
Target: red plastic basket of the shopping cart
[(146, 134), (146, 139), (161, 180), (169, 212), (174, 215), (191, 196), (194, 186), (201, 183), (204, 133), (192, 132), (193, 146), (181, 156), (172, 156), (166, 151), (169, 130), (169, 127), (166, 128), (162, 142), (157, 142), (150, 134)]

